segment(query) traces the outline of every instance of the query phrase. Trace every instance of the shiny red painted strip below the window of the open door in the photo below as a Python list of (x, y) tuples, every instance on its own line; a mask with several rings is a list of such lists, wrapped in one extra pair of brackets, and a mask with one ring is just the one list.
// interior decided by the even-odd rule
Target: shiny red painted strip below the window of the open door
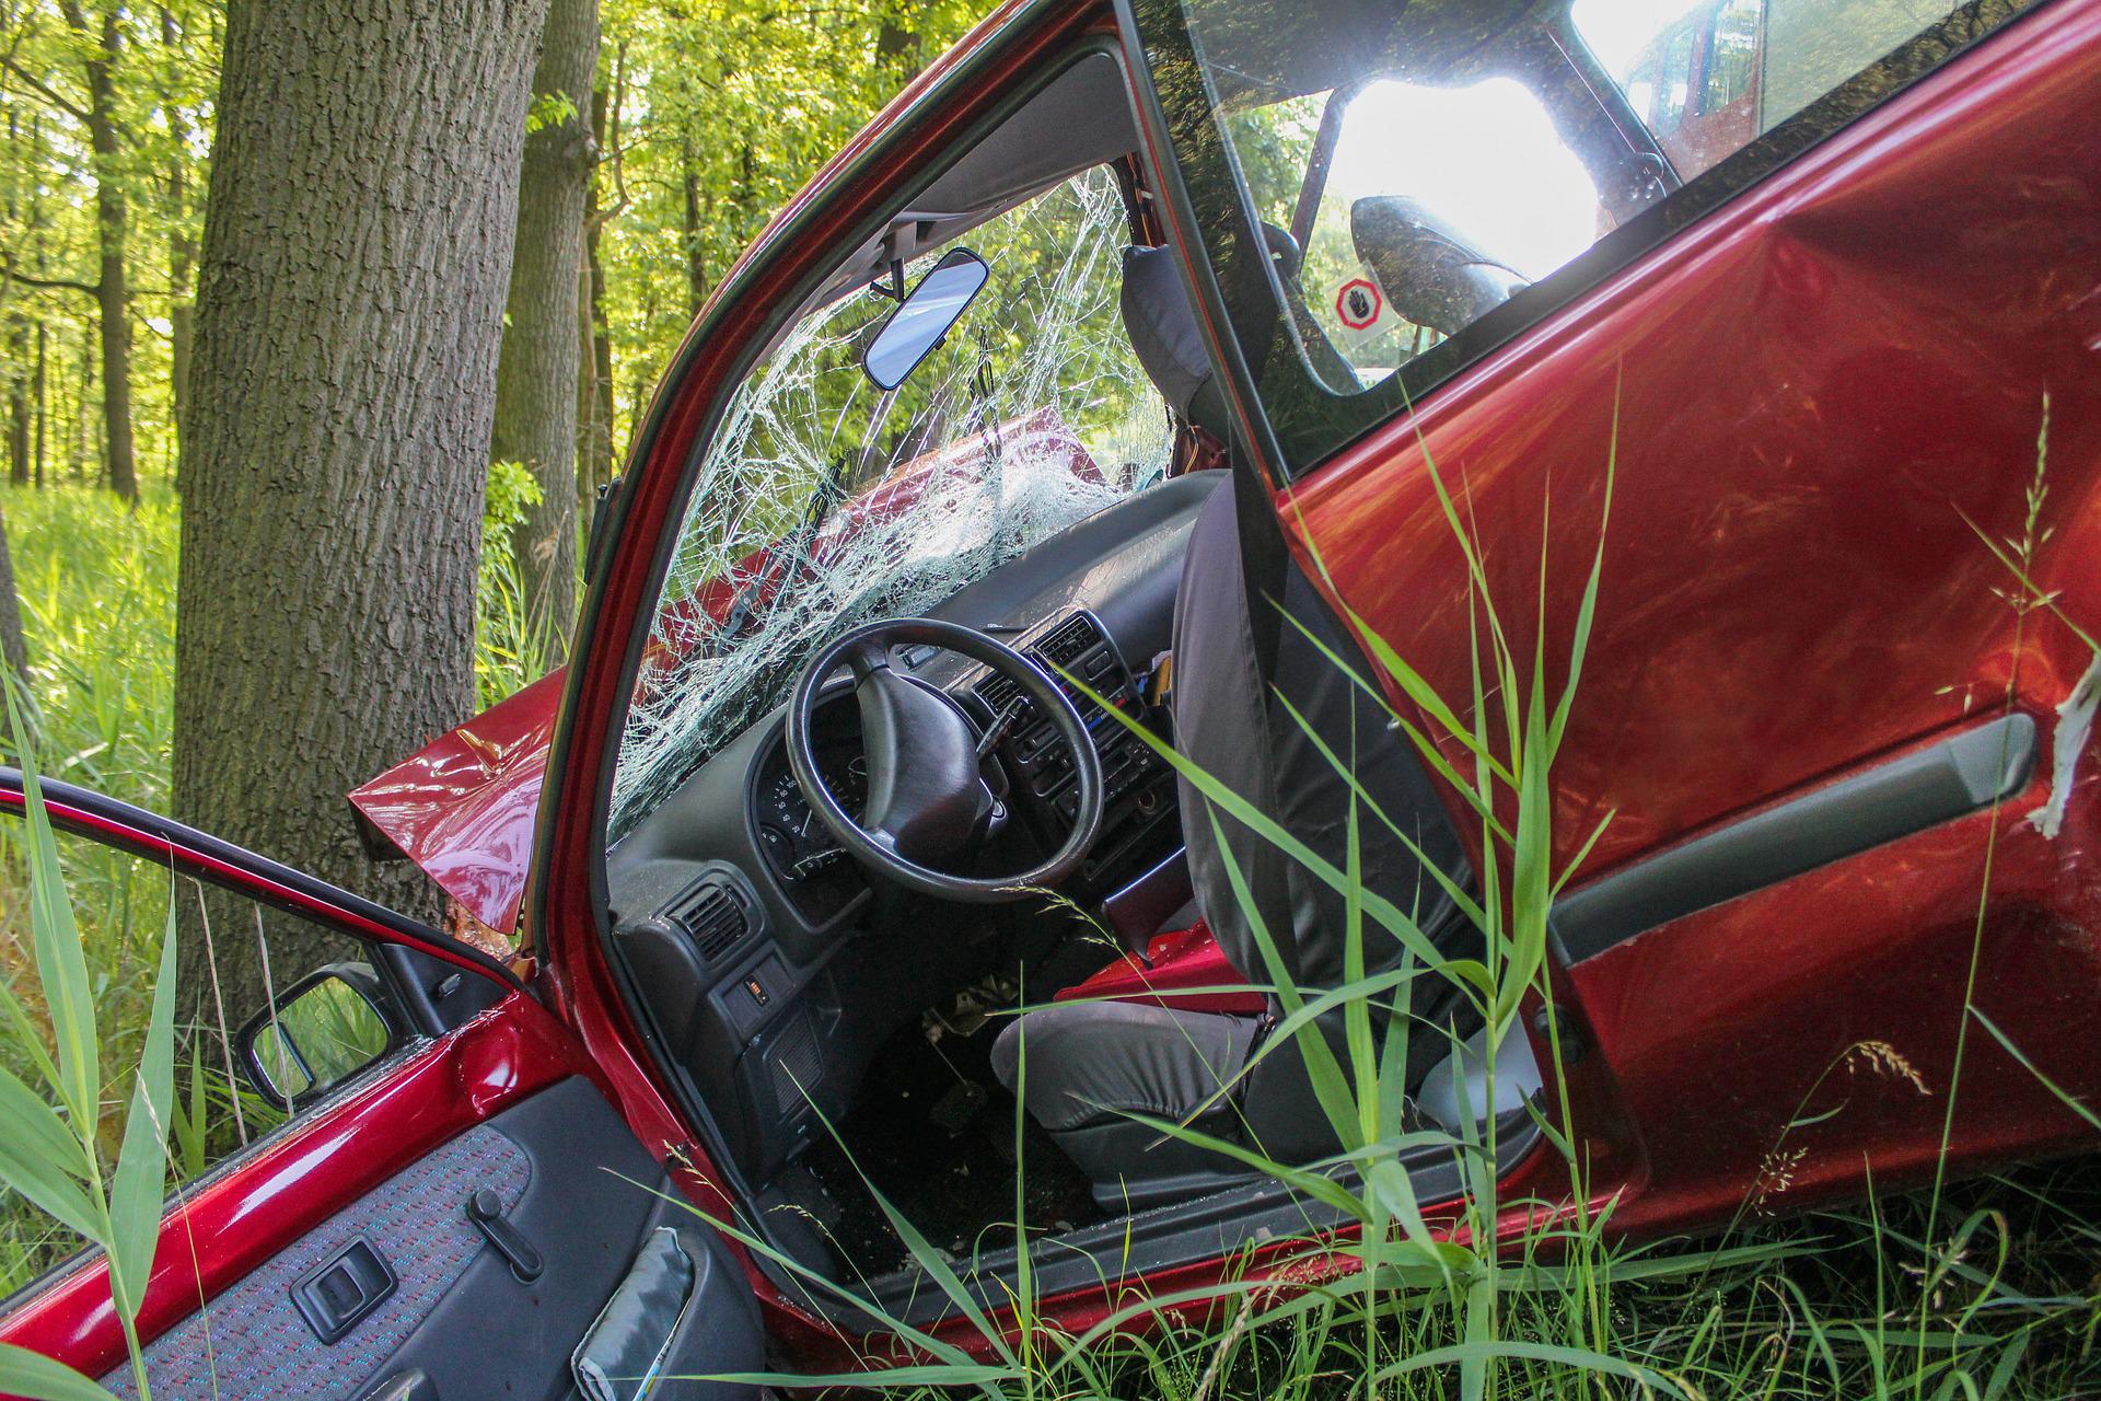
[[(408, 1065), (294, 1120), (237, 1170), (185, 1191), (162, 1222), (139, 1334), (153, 1340), (382, 1178), (475, 1124), (592, 1067), (525, 994), (424, 1048)], [(0, 1315), (0, 1342), (88, 1376), (124, 1361), (109, 1269), (84, 1258)]]

